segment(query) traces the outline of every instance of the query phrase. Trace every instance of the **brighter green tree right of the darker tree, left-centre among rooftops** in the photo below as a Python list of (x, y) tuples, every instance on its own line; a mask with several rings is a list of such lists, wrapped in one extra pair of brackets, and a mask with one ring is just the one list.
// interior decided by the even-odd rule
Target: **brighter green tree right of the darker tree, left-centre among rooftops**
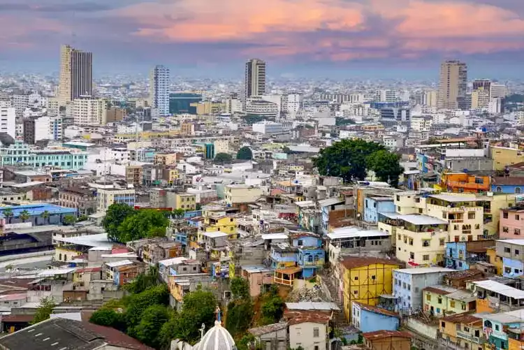
[(129, 242), (146, 237), (158, 237), (159, 228), (165, 235), (169, 220), (162, 212), (157, 210), (138, 210), (137, 214), (131, 215), (122, 221), (118, 227), (117, 240)]

